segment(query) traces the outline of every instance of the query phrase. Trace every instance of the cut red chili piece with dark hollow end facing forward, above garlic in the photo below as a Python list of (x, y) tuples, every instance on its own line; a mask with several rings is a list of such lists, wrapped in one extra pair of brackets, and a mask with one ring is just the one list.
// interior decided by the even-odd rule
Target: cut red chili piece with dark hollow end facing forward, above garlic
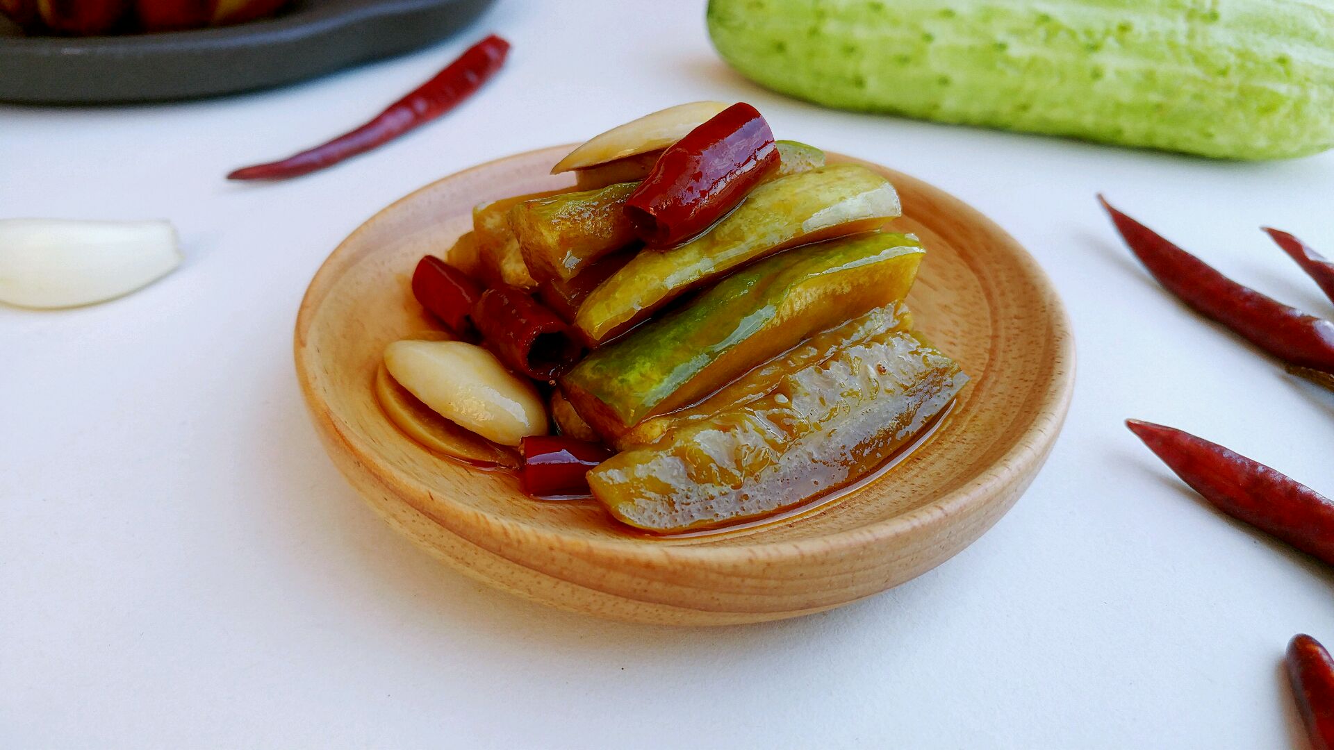
[(539, 380), (560, 375), (583, 351), (574, 328), (515, 287), (482, 292), (472, 307), (472, 324), (500, 362)]

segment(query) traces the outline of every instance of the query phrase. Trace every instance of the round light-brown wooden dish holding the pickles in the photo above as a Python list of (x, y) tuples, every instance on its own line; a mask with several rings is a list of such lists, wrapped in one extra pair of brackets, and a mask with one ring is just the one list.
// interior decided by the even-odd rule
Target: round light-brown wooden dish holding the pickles
[[(931, 185), (883, 167), (927, 259), (908, 303), (972, 376), (934, 438), (882, 479), (818, 510), (719, 535), (655, 539), (595, 502), (542, 502), (390, 423), (372, 392), (390, 342), (434, 324), (408, 278), (483, 200), (563, 187), (570, 147), (459, 172), (390, 206), (315, 275), (296, 320), (296, 372), (334, 463), (391, 526), (507, 591), (599, 617), (727, 625), (828, 610), (884, 591), (966, 547), (1029, 486), (1074, 386), (1065, 310), (1033, 258)], [(831, 160), (850, 159), (831, 155)]]

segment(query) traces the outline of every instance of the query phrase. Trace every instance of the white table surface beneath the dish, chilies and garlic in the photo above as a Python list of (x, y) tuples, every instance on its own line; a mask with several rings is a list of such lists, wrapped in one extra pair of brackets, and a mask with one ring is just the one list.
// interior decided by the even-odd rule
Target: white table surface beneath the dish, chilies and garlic
[[(169, 218), (185, 263), (109, 304), (0, 308), (3, 747), (1306, 747), (1279, 659), (1334, 645), (1334, 575), (1210, 511), (1122, 426), (1191, 430), (1334, 491), (1334, 395), (1203, 323), (1094, 194), (1311, 311), (1258, 231), (1334, 254), (1334, 152), (1215, 163), (816, 108), (714, 55), (702, 3), (504, 1), (462, 36), (263, 93), (0, 107), (0, 216)], [(495, 29), (475, 100), (272, 185), (237, 165), (360, 123)], [(334, 470), (292, 372), (297, 302), (360, 222), (439, 176), (643, 112), (744, 99), (779, 137), (995, 218), (1077, 331), (1033, 487), (887, 594), (762, 626), (608, 623), (440, 566)]]

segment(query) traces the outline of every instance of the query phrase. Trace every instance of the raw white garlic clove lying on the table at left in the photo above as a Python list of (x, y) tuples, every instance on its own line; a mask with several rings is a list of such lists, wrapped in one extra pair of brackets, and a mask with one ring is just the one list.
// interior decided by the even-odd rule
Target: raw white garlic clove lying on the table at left
[(0, 302), (77, 307), (127, 295), (180, 264), (168, 222), (0, 219)]

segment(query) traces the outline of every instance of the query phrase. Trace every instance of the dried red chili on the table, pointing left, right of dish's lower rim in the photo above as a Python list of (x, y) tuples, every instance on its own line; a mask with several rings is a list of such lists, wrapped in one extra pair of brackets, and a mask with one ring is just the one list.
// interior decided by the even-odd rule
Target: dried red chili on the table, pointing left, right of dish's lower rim
[(1334, 565), (1334, 500), (1189, 432), (1138, 419), (1126, 427), (1218, 510)]

